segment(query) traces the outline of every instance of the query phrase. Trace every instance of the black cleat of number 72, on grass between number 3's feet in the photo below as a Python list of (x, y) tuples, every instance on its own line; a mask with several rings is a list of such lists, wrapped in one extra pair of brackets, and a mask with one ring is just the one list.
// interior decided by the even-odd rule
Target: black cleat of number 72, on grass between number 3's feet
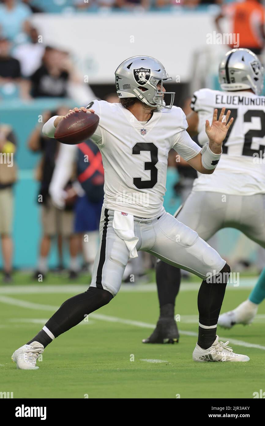
[(142, 343), (178, 343), (180, 338), (174, 318), (160, 318), (153, 333)]

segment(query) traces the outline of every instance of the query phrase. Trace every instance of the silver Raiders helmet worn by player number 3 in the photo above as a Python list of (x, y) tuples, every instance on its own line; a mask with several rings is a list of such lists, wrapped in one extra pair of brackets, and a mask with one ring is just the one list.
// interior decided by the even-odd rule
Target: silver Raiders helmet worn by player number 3
[[(133, 56), (118, 66), (115, 83), (119, 98), (138, 98), (149, 107), (171, 109), (175, 92), (163, 92), (163, 83), (172, 81), (162, 63), (151, 56)], [(161, 83), (161, 90), (157, 84)], [(165, 105), (163, 95), (171, 95), (169, 105)]]

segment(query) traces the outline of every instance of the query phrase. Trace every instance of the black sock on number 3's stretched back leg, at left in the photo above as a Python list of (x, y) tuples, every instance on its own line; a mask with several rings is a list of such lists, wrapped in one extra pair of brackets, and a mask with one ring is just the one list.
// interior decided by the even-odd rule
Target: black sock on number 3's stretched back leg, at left
[(46, 322), (44, 330), (41, 330), (27, 344), (37, 341), (46, 347), (55, 337), (79, 324), (88, 314), (101, 308), (101, 306), (107, 305), (111, 299), (113, 299), (113, 296), (109, 291), (89, 287), (84, 293), (66, 300)]

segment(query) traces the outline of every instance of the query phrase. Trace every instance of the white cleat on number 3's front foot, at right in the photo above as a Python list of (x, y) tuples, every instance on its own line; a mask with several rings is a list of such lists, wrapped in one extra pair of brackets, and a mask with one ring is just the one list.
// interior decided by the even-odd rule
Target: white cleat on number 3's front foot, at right
[(206, 361), (217, 361), (217, 362), (234, 362), (234, 361), (249, 361), (247, 355), (234, 354), (233, 349), (230, 346), (227, 346), (229, 342), (219, 342), (219, 337), (216, 336), (214, 343), (208, 349), (202, 349), (198, 343), (196, 343), (195, 349), (192, 354), (192, 359), (194, 361), (199, 361), (200, 363)]

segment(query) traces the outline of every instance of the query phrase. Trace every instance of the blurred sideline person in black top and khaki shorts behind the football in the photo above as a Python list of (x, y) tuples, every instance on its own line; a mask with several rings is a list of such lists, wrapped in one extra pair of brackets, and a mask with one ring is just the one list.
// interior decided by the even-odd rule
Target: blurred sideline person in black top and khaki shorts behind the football
[[(57, 112), (46, 112), (43, 114), (43, 122), (46, 122), (51, 116), (65, 115), (68, 108), (61, 107)], [(37, 265), (37, 270), (34, 273), (35, 279), (45, 278), (48, 270), (48, 255), (51, 248), (52, 238), (62, 235), (63, 238), (69, 241), (70, 265), (69, 278), (74, 279), (78, 275), (79, 264), (77, 259), (78, 239), (74, 235), (74, 203), (76, 193), (71, 186), (72, 170), (69, 172), (69, 179), (66, 186), (62, 189), (65, 194), (66, 205), (64, 209), (58, 209), (51, 203), (48, 193), (51, 179), (54, 173), (59, 143), (54, 139), (47, 138), (42, 135), (43, 124), (38, 124), (31, 132), (28, 139), (28, 147), (34, 152), (41, 151), (42, 158), (36, 170), (36, 178), (40, 181), (40, 189), (38, 201), (41, 201), (41, 216), (43, 236), (40, 242), (40, 257)]]

